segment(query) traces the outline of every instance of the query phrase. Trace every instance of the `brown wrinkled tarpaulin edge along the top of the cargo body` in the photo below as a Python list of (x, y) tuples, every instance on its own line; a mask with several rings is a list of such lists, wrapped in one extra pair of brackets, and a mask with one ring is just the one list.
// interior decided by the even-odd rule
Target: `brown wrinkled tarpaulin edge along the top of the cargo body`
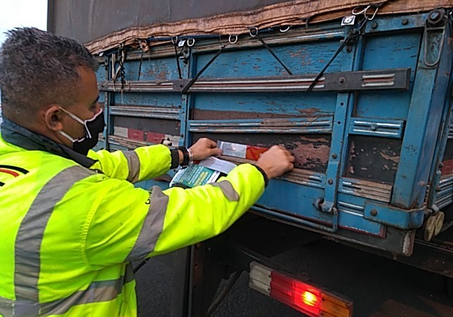
[[(61, 1), (61, 0), (59, 0)], [(96, 0), (88, 1), (93, 2)], [(139, 0), (134, 1), (122, 1), (125, 4), (135, 3), (138, 5), (138, 10), (142, 2)], [(155, 1), (154, 1), (155, 2)], [(171, 8), (173, 11), (177, 10), (178, 7), (174, 6), (170, 2), (166, 3), (167, 8)], [(191, 2), (190, 8), (194, 10), (196, 6), (202, 6), (203, 1)], [(212, 1), (215, 3), (217, 1)], [(237, 1), (236, 1), (237, 2)], [(247, 2), (247, 1), (244, 1)], [(258, 3), (257, 3), (258, 2)], [(263, 2), (274, 2), (267, 6), (263, 6)], [(108, 2), (107, 2), (108, 3)], [(114, 5), (115, 1), (111, 1), (109, 6)], [(149, 3), (149, 1), (148, 1)], [(378, 14), (391, 14), (391, 13), (416, 13), (430, 11), (433, 8), (449, 8), (453, 6), (453, 0), (378, 0), (378, 1), (357, 1), (357, 0), (295, 0), (285, 1), (275, 4), (275, 1), (255, 1), (254, 7), (247, 11), (235, 11), (229, 13), (214, 14), (211, 16), (204, 16), (202, 18), (187, 18), (177, 20), (175, 16), (181, 16), (180, 13), (173, 14), (169, 13), (170, 18), (161, 18), (160, 20), (167, 20), (165, 22), (156, 22), (143, 25), (144, 21), (137, 20), (137, 23), (142, 26), (131, 26), (110, 32), (108, 35), (98, 37), (96, 40), (86, 41), (86, 47), (93, 53), (103, 52), (106, 49), (118, 47), (121, 43), (132, 44), (137, 43), (138, 39), (147, 39), (149, 37), (174, 37), (180, 35), (239, 35), (246, 33), (250, 28), (269, 28), (275, 25), (301, 25), (306, 23), (306, 19), (309, 18), (310, 23), (318, 23), (326, 20), (333, 20), (341, 18), (343, 16), (350, 15), (352, 8), (357, 6), (364, 6), (369, 4), (382, 4)], [(98, 4), (99, 6), (100, 4)], [(123, 4), (124, 5), (124, 4)], [(237, 5), (237, 4), (236, 4)], [(160, 3), (162, 6), (162, 2)], [(185, 4), (187, 6), (187, 4)], [(212, 6), (212, 5), (211, 5)], [(245, 4), (243, 6), (246, 6)], [(184, 8), (180, 8), (183, 10)], [(71, 8), (67, 8), (71, 10)], [(137, 11), (137, 7), (134, 7)], [(144, 10), (144, 6), (142, 6)], [(222, 10), (222, 8), (217, 9)], [(138, 11), (139, 12), (139, 11)], [(205, 10), (205, 13), (210, 13), (209, 10)], [(223, 12), (228, 12), (224, 10)], [(117, 11), (117, 13), (119, 13)], [(139, 12), (140, 13), (140, 12)], [(59, 14), (55, 12), (55, 14)], [(102, 14), (99, 12), (98, 14)], [(154, 13), (155, 14), (155, 13)], [(194, 16), (195, 13), (188, 16)], [(142, 15), (142, 13), (140, 13)], [(202, 16), (202, 13), (200, 13)], [(92, 13), (93, 16), (93, 13)], [(196, 16), (196, 14), (195, 14)], [(93, 16), (95, 17), (95, 16)], [(54, 17), (55, 18), (55, 17)], [(57, 16), (57, 18), (59, 18)], [(61, 18), (61, 17), (60, 17)], [(105, 18), (104, 18), (105, 19)], [(158, 18), (159, 20), (159, 18)], [(113, 18), (113, 23), (115, 18)], [(52, 23), (52, 21), (51, 21)], [(70, 23), (70, 22), (68, 22)], [(95, 28), (96, 24), (89, 23), (91, 27)], [(121, 26), (116, 25), (116, 28)], [(54, 32), (64, 34), (61, 30), (53, 30)], [(63, 30), (64, 31), (64, 30)], [(81, 39), (77, 39), (81, 40)]]

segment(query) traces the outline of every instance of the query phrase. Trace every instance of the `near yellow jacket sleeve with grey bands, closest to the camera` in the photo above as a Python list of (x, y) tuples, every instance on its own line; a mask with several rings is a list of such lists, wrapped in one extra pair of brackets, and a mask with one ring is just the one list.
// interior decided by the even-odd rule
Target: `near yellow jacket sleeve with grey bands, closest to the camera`
[(151, 193), (115, 179), (100, 182), (102, 198), (93, 206), (84, 230), (88, 265), (136, 261), (224, 232), (255, 203), (264, 179), (253, 165), (235, 167), (217, 183), (194, 189)]

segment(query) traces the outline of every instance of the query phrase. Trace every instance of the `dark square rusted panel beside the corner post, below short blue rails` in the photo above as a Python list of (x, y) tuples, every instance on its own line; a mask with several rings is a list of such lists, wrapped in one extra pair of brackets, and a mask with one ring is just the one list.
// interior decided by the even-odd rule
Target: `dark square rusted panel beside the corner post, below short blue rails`
[(398, 169), (401, 140), (351, 136), (346, 175), (392, 184)]

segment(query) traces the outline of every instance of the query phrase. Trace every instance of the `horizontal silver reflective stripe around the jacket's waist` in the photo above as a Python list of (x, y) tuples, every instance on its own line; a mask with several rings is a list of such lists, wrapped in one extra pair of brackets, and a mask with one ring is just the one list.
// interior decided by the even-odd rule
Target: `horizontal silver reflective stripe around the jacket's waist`
[(58, 299), (47, 303), (38, 304), (33, 301), (11, 300), (0, 297), (0, 315), (5, 317), (30, 317), (38, 316), (40, 311), (42, 317), (51, 315), (62, 315), (76, 305), (111, 301), (122, 293), (125, 284), (134, 280), (132, 265), (126, 265), (125, 275), (117, 280), (106, 280), (93, 282), (91, 285), (79, 292), (75, 292), (65, 299)]

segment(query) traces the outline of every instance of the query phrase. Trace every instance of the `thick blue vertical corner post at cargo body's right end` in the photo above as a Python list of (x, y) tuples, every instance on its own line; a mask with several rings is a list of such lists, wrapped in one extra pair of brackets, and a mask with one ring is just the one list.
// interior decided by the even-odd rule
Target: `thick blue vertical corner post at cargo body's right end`
[[(448, 44), (451, 36), (450, 23), (446, 25), (446, 36), (432, 45), (445, 42), (441, 52), (440, 64), (435, 67), (425, 66), (425, 54), (420, 54), (417, 66), (413, 95), (408, 113), (403, 148), (398, 172), (395, 179), (391, 204), (406, 208), (420, 208), (425, 199), (426, 186), (435, 150), (437, 132), (445, 106), (449, 71), (452, 69), (452, 47)], [(426, 35), (425, 36), (430, 36)], [(420, 52), (436, 54), (425, 47), (423, 41)], [(434, 57), (436, 59), (436, 57)]]

